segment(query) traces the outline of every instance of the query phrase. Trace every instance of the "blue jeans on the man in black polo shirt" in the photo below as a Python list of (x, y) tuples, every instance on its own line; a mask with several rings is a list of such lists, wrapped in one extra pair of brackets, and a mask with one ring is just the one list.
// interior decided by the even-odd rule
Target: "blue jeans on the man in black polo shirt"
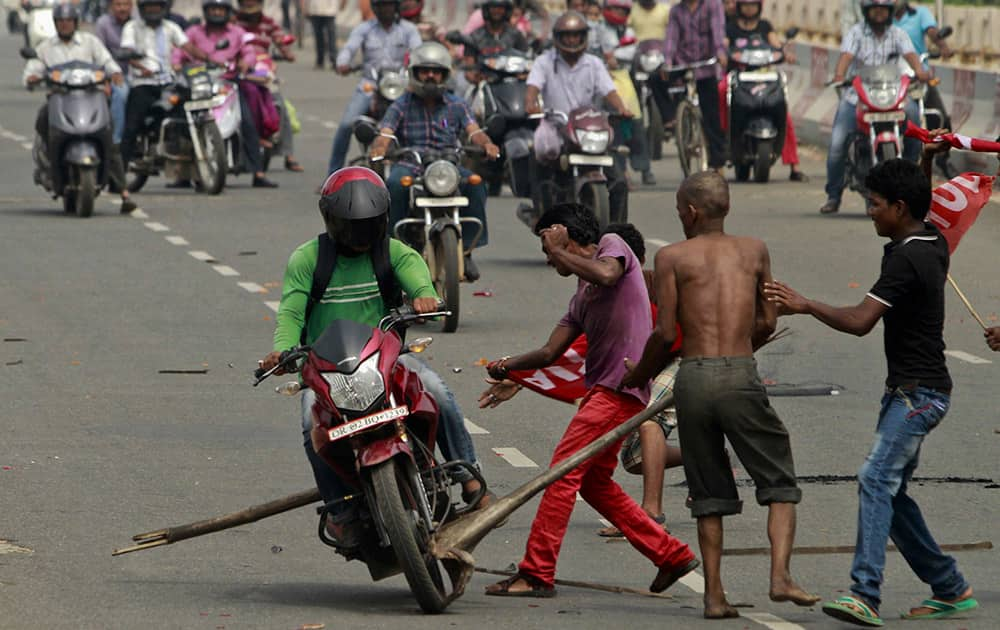
[(896, 543), (934, 597), (954, 599), (969, 587), (955, 559), (941, 552), (906, 486), (917, 468), (924, 437), (941, 422), (951, 397), (931, 389), (895, 389), (882, 397), (877, 438), (858, 472), (858, 538), (851, 591), (878, 609), (885, 547)]

